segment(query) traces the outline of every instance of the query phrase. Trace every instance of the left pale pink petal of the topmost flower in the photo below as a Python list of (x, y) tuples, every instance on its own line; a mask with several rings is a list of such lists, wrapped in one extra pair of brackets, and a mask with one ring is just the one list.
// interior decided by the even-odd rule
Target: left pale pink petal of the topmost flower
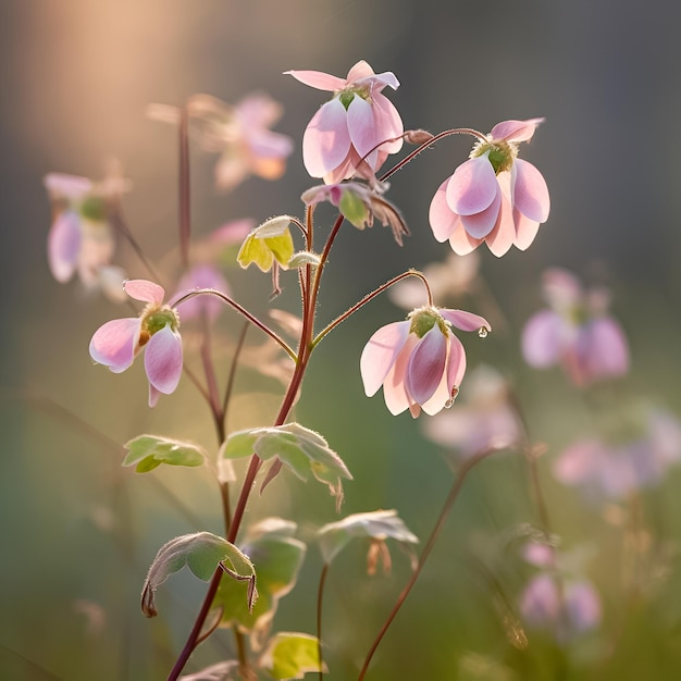
[(305, 131), (305, 168), (312, 177), (323, 177), (345, 159), (349, 148), (347, 111), (336, 97), (320, 108)]

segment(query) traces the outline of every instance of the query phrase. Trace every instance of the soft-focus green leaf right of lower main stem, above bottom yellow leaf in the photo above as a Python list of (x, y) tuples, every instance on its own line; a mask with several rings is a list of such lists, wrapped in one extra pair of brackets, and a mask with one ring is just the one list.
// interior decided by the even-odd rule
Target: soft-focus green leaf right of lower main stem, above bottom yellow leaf
[(267, 630), (280, 598), (295, 586), (306, 554), (306, 545), (293, 536), (296, 528), (295, 522), (269, 518), (249, 530), (243, 549), (258, 566), (258, 602), (249, 610), (243, 586), (223, 580), (212, 606), (222, 610), (222, 627)]

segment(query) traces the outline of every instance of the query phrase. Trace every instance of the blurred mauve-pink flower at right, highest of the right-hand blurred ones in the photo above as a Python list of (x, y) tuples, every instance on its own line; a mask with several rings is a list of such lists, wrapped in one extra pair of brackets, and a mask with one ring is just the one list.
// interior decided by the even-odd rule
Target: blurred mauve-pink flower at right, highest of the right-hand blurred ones
[(577, 277), (560, 269), (545, 272), (543, 288), (550, 309), (524, 326), (525, 361), (536, 369), (560, 363), (578, 386), (627, 373), (629, 347), (620, 325), (607, 315), (607, 293), (584, 293)]

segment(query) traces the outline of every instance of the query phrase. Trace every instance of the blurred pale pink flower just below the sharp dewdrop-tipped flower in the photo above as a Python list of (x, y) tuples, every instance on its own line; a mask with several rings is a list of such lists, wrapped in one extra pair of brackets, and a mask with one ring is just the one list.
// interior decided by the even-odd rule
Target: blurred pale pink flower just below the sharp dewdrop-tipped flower
[(423, 428), (430, 439), (456, 448), (463, 458), (523, 441), (522, 424), (508, 399), (506, 382), (484, 366), (468, 379), (463, 403), (451, 411), (435, 414)]

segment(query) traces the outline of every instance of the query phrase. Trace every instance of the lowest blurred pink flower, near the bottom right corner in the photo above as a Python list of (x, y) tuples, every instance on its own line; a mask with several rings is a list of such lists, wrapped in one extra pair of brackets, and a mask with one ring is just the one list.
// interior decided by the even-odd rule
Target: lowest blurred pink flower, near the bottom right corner
[(520, 597), (524, 622), (534, 629), (552, 632), (566, 643), (600, 622), (600, 599), (586, 580), (566, 580), (541, 572), (530, 580)]

